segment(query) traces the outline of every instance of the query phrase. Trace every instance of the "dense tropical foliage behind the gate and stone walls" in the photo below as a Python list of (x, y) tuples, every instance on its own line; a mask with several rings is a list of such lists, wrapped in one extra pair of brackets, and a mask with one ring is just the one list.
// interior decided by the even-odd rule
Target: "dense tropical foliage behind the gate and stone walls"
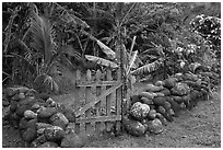
[[(220, 79), (220, 3), (2, 3), (2, 84), (62, 92), (80, 69)], [(122, 57), (120, 57), (122, 56)], [(121, 62), (121, 64), (120, 64)], [(216, 80), (218, 79), (218, 80)]]

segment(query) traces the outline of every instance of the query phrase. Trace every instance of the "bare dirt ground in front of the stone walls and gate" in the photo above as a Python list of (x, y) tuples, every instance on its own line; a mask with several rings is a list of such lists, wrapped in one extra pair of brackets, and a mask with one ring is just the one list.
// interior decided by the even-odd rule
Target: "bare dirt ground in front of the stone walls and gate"
[[(139, 85), (140, 86), (140, 85)], [(137, 88), (138, 89), (138, 88)], [(139, 89), (138, 89), (139, 90)], [(136, 91), (138, 92), (138, 91)], [(24, 147), (19, 130), (2, 126), (2, 147)], [(221, 90), (212, 100), (199, 102), (191, 111), (184, 111), (160, 135), (133, 137), (103, 135), (86, 141), (87, 148), (220, 148), (221, 147)]]

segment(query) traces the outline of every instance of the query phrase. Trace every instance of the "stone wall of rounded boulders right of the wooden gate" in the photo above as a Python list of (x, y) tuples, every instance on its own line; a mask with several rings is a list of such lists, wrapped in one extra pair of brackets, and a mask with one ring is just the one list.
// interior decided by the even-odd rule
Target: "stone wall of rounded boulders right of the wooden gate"
[(164, 81), (146, 84), (145, 91), (130, 97), (124, 117), (125, 129), (133, 136), (160, 134), (183, 109), (191, 109), (209, 96), (209, 80), (193, 73), (176, 73)]

